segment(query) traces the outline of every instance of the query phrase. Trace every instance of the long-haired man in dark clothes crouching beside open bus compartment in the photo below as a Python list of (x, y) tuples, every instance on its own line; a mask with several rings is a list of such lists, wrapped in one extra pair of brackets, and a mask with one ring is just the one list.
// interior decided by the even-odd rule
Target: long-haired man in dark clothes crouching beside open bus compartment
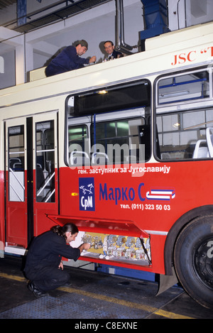
[(70, 275), (63, 271), (62, 256), (77, 261), (80, 253), (87, 250), (90, 244), (81, 244), (78, 248), (67, 246), (75, 241), (78, 229), (75, 224), (53, 226), (50, 231), (35, 237), (26, 257), (24, 273), (30, 280), (28, 289), (35, 297), (48, 295), (62, 285), (69, 285)]

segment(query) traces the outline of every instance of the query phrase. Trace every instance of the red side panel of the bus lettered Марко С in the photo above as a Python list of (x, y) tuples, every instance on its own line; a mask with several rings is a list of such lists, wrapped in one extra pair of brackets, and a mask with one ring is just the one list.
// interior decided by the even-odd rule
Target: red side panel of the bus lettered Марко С
[[(151, 271), (165, 273), (161, 258), (164, 257), (166, 236), (173, 224), (195, 207), (212, 204), (209, 183), (205, 181), (206, 178), (211, 178), (212, 163), (209, 160), (208, 165), (204, 161), (197, 161), (165, 163), (163, 166), (159, 163), (146, 163), (141, 166), (132, 165), (131, 168), (129, 165), (127, 168), (109, 166), (108, 169), (62, 168), (60, 212), (66, 217), (66, 222), (77, 225), (77, 218), (80, 217), (80, 230), (88, 229), (90, 232), (94, 228), (94, 232), (100, 233), (103, 228), (102, 222), (94, 226), (88, 225), (88, 221), (93, 219), (108, 219), (109, 228), (113, 225), (112, 221), (132, 222), (141, 232), (146, 231), (151, 235)], [(145, 170), (141, 177), (133, 177), (133, 170), (136, 168)], [(178, 179), (175, 178), (177, 174), (181, 175)], [(82, 180), (87, 183), (87, 179), (94, 182), (94, 202), (92, 199), (88, 200), (80, 188)], [(150, 195), (152, 190), (155, 192)], [(134, 268), (141, 269), (136, 261), (133, 265)]]

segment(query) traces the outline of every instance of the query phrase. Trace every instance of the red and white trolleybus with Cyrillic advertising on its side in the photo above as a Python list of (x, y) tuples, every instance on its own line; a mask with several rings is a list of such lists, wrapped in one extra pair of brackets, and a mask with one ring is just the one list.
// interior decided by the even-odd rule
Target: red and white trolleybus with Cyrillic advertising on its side
[[(213, 23), (0, 91), (0, 250), (77, 224), (81, 260), (213, 306)], [(35, 75), (35, 72), (34, 72)]]

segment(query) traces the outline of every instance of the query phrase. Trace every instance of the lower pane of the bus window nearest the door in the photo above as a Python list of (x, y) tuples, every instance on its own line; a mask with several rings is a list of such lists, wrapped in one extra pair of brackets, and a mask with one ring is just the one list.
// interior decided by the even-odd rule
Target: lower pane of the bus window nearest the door
[(69, 126), (68, 133), (70, 166), (143, 163), (151, 155), (151, 129), (143, 116), (97, 120), (95, 126), (91, 121), (89, 127)]

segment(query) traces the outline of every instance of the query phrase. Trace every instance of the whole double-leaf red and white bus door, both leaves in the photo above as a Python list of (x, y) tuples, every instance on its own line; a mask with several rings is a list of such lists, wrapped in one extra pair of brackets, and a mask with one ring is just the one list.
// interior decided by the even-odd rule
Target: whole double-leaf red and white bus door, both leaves
[(6, 121), (6, 246), (26, 249), (58, 214), (57, 113)]

